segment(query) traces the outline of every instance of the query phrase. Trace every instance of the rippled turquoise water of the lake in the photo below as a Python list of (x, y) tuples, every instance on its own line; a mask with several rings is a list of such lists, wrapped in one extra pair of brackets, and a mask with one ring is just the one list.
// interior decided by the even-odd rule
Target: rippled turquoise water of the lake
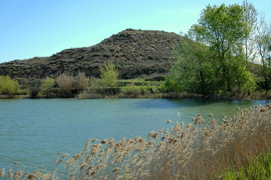
[[(0, 169), (33, 170), (53, 166), (57, 152), (83, 150), (89, 138), (146, 137), (169, 128), (166, 121), (191, 122), (199, 113), (208, 121), (269, 100), (201, 99), (0, 99)], [(172, 124), (171, 124), (172, 125)]]

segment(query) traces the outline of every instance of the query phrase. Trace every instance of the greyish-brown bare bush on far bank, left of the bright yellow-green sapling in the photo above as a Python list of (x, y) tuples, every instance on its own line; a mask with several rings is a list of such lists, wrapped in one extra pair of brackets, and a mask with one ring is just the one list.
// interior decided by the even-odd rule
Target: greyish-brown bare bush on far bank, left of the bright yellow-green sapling
[(72, 94), (74, 78), (68, 73), (60, 73), (56, 77), (56, 83), (59, 88), (59, 93), (64, 97), (70, 97)]

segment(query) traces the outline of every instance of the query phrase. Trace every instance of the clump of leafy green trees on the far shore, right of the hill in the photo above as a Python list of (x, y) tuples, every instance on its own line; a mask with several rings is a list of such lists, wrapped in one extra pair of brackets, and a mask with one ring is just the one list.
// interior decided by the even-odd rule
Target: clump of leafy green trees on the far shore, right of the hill
[[(166, 80), (169, 90), (239, 95), (254, 90), (246, 65), (243, 8), (237, 4), (206, 6), (173, 51), (175, 64)], [(193, 42), (196, 40), (197, 42)]]

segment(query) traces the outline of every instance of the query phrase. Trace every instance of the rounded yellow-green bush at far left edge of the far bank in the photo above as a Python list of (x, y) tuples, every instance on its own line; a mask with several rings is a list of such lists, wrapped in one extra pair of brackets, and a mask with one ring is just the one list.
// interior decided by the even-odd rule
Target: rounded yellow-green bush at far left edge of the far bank
[(18, 81), (11, 79), (9, 76), (0, 75), (0, 94), (8, 95), (9, 98), (12, 98), (20, 91), (21, 86)]

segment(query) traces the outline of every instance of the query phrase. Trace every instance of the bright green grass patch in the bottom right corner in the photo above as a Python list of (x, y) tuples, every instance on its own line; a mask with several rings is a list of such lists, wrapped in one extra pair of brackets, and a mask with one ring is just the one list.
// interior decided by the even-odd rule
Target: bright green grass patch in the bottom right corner
[(223, 173), (224, 180), (271, 180), (271, 151), (262, 153), (249, 164)]

